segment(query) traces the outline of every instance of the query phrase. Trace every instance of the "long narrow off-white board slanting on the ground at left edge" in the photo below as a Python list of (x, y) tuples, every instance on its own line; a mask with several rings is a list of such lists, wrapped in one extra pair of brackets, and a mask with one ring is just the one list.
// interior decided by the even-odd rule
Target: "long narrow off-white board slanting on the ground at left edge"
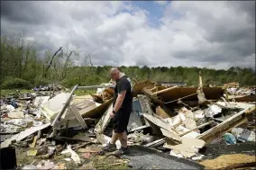
[(47, 123), (47, 124), (43, 124), (41, 126), (32, 127), (27, 130), (24, 130), (16, 135), (14, 135), (10, 139), (5, 139), (5, 141), (3, 143), (1, 143), (1, 148), (7, 148), (13, 140), (21, 141), (22, 139), (25, 139), (26, 137), (32, 135), (34, 132), (36, 132), (38, 130), (43, 130), (49, 126), (50, 126), (50, 123)]

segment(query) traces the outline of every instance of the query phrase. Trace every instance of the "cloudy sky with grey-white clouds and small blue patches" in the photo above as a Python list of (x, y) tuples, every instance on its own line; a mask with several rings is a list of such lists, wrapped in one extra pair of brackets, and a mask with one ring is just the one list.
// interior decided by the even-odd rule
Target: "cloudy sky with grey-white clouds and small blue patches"
[(77, 64), (255, 67), (254, 1), (1, 1), (1, 35), (22, 31)]

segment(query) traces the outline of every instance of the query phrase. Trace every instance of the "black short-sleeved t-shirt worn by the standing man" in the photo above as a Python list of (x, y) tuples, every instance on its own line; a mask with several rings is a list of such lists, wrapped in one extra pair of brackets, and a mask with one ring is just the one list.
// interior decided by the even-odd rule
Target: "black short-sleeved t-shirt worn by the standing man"
[(116, 85), (114, 87), (113, 106), (116, 102), (118, 94), (123, 92), (123, 90), (126, 90), (126, 94), (123, 99), (122, 106), (119, 110), (123, 112), (133, 112), (133, 92), (131, 80), (128, 78), (128, 76), (122, 76), (119, 80), (116, 81)]

